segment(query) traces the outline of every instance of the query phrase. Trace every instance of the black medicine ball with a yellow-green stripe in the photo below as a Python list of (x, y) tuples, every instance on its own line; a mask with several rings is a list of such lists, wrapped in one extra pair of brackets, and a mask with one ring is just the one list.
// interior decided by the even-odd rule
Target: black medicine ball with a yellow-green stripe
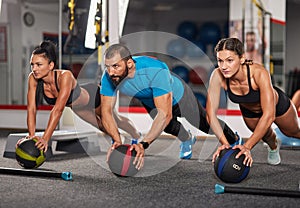
[(16, 148), (16, 160), (24, 168), (32, 169), (41, 166), (46, 156), (44, 151), (39, 150), (35, 143), (36, 138), (24, 139), (19, 146)]

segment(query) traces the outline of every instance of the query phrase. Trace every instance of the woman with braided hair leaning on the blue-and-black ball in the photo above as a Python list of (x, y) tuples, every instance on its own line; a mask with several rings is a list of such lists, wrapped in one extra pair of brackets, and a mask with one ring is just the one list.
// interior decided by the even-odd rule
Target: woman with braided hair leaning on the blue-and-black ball
[(229, 148), (217, 120), (220, 89), (227, 91), (229, 99), (238, 103), (244, 122), (253, 132), (239, 148), (237, 157), (244, 154), (246, 165), (252, 165), (250, 150), (263, 140), (268, 144), (268, 163), (280, 163), (280, 142), (271, 128), (274, 122), (289, 137), (300, 138), (298, 116), (294, 104), (279, 88), (272, 86), (269, 72), (262, 66), (245, 59), (243, 43), (237, 38), (221, 39), (215, 47), (218, 61), (210, 78), (207, 98), (207, 119), (222, 143), (213, 155), (213, 161), (224, 148)]

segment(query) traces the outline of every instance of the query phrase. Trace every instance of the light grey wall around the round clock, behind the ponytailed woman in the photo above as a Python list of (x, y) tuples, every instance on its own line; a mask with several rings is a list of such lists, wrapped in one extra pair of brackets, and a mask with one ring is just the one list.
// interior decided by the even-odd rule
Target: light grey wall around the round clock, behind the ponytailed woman
[[(64, 0), (67, 2), (67, 0)], [(17, 0), (4, 0), (2, 4), (0, 23), (9, 28), (9, 69), (11, 71), (11, 103), (26, 103), (27, 76), (30, 72), (29, 58), (34, 46), (43, 40), (43, 33), (58, 34), (58, 3), (40, 4), (20, 3)], [(33, 26), (28, 27), (23, 22), (23, 14), (30, 11), (35, 17)], [(67, 20), (63, 19), (63, 29), (67, 31)], [(7, 89), (0, 89), (7, 90)], [(9, 104), (9, 103), (8, 103)]]

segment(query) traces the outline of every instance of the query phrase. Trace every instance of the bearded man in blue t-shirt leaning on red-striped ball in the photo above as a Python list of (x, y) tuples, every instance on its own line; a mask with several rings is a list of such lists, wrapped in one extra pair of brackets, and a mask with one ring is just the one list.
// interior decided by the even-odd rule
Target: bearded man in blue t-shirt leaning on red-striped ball
[[(121, 44), (112, 45), (106, 50), (105, 67), (100, 89), (101, 118), (104, 128), (114, 141), (112, 149), (122, 144), (112, 114), (116, 93), (120, 91), (140, 100), (153, 118), (152, 126), (142, 142), (131, 147), (137, 151), (134, 163), (138, 168), (143, 166), (144, 150), (163, 131), (182, 141), (179, 157), (190, 159), (196, 138), (177, 118), (185, 117), (190, 124), (205, 133), (209, 133), (210, 126), (205, 110), (188, 85), (172, 74), (164, 62), (148, 56), (132, 57), (128, 48)], [(226, 124), (223, 132), (230, 144), (235, 142), (236, 136)]]

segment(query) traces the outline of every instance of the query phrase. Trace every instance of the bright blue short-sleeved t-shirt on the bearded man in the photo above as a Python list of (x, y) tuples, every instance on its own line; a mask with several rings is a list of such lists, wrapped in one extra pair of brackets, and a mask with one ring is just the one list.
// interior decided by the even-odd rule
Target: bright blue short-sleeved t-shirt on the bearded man
[(134, 56), (135, 74), (133, 78), (125, 78), (117, 87), (105, 72), (101, 79), (100, 94), (116, 96), (116, 91), (135, 97), (150, 108), (155, 108), (153, 98), (173, 93), (173, 105), (183, 96), (184, 88), (181, 80), (171, 74), (168, 66), (148, 56)]

